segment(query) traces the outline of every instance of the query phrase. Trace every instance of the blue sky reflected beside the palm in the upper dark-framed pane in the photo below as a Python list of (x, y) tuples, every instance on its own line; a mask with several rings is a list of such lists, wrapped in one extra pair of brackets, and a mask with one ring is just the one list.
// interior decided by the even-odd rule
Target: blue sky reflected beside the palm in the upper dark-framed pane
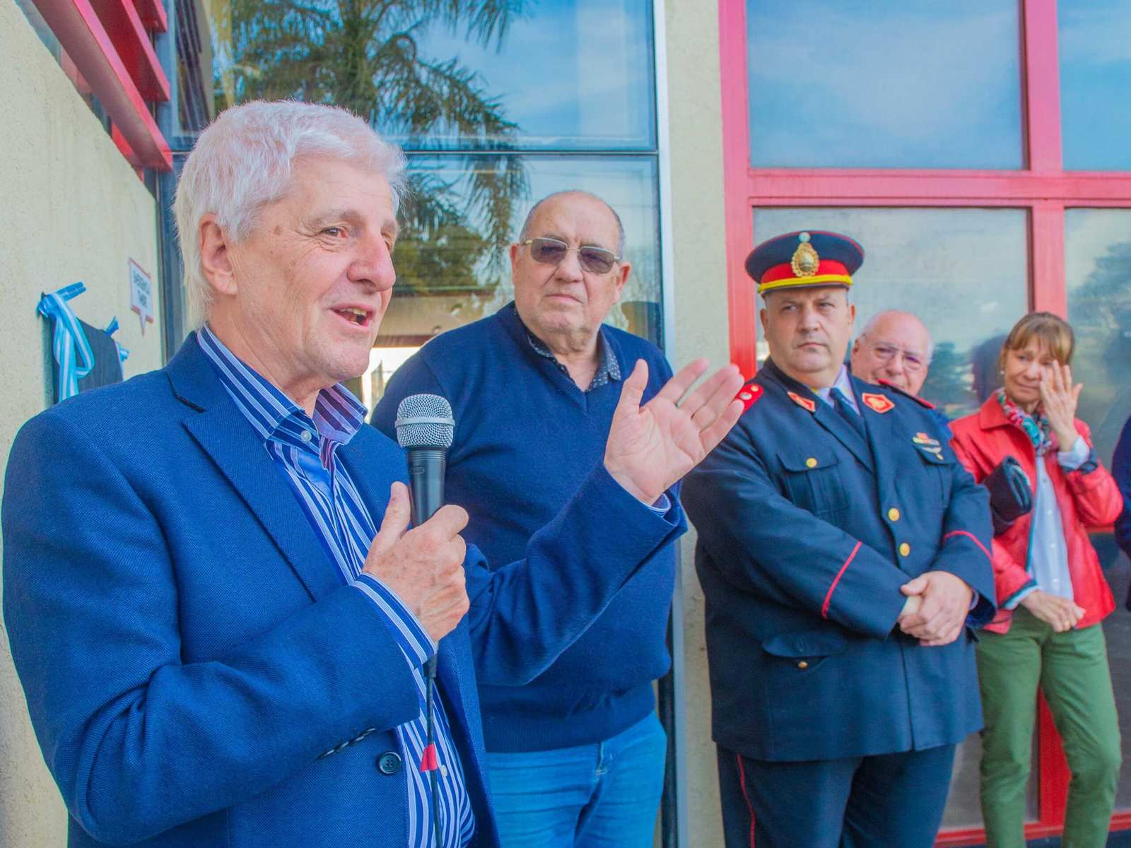
[[(543, 0), (483, 47), (434, 26), (420, 34), (429, 59), (456, 58), (519, 126), (520, 148), (648, 149), (653, 131), (651, 3)], [(397, 139), (405, 142), (406, 139)], [(432, 138), (426, 147), (451, 147)]]

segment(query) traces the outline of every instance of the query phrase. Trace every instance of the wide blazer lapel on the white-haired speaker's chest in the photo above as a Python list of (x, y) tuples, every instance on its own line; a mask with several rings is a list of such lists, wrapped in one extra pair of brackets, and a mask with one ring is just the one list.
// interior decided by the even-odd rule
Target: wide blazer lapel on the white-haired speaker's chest
[(307, 516), (251, 424), (228, 397), (196, 334), (181, 346), (166, 373), (173, 392), (196, 410), (184, 417), (184, 429), (240, 493), (311, 598), (317, 600), (340, 587)]

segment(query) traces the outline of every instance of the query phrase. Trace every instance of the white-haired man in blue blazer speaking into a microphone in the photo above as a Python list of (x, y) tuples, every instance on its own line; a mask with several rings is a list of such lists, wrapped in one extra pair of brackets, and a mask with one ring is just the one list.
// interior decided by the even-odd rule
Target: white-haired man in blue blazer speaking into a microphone
[(654, 504), (740, 412), (734, 369), (683, 397), (701, 361), (644, 406), (638, 363), (523, 560), (489, 570), (458, 507), (409, 529), (404, 456), (340, 386), (389, 304), (403, 171), (340, 110), (225, 112), (176, 197), (198, 331), (16, 439), (5, 617), (71, 846), (497, 846), (476, 664), (536, 676), (683, 530)]

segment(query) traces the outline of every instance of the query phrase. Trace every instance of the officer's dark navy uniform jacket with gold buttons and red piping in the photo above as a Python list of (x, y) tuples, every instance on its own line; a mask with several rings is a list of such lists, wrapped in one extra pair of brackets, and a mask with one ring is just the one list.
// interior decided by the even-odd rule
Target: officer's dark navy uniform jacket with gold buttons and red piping
[[(994, 613), (987, 495), (927, 408), (852, 382), (866, 441), (767, 361), (757, 401), (684, 484), (714, 738), (745, 756), (895, 753), (982, 727), (973, 628)], [(943, 648), (896, 628), (899, 587), (931, 570), (978, 594)]]

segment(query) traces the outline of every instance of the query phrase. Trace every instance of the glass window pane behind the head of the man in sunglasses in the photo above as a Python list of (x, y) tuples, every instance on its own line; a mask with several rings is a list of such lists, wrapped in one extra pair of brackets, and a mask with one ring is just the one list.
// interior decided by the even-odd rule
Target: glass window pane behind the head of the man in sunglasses
[[(654, 157), (470, 156), (465, 161), (421, 155), (411, 157), (409, 170), (414, 197), (403, 207), (405, 228), (392, 256), (397, 286), (377, 338), (371, 384), (362, 386), (371, 403), (380, 399), (383, 381), (405, 358), (404, 348), (493, 314), (513, 298), (508, 248), (534, 202), (564, 189), (593, 191), (624, 223), (624, 256), (632, 272), (607, 322), (662, 344)], [(508, 181), (510, 200), (493, 205), (473, 199), (483, 185)], [(491, 214), (507, 202), (512, 205), (510, 214)]]

